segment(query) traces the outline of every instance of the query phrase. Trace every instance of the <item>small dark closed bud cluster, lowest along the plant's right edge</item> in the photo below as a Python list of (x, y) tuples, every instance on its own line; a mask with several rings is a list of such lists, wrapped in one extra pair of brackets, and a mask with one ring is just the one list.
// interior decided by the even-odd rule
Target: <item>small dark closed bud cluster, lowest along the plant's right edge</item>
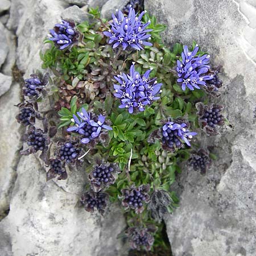
[(196, 171), (200, 171), (201, 174), (205, 174), (210, 166), (210, 162), (211, 161), (208, 152), (202, 149), (194, 152), (189, 159), (189, 163), (191, 164), (193, 169)]

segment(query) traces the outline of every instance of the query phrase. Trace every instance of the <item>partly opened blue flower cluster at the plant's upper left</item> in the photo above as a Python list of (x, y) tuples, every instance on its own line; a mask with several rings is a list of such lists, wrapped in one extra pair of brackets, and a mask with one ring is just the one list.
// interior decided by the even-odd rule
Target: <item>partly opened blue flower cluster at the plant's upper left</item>
[(79, 31), (76, 30), (73, 20), (61, 20), (49, 32), (49, 40), (59, 49), (73, 46), (79, 38)]

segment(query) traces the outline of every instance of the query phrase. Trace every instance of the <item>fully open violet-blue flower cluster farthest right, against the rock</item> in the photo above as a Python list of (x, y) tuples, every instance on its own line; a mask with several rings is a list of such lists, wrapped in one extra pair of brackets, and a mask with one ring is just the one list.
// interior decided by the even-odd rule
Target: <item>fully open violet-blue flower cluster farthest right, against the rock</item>
[(213, 75), (205, 75), (209, 71), (210, 55), (196, 56), (199, 47), (196, 45), (192, 52), (184, 46), (181, 54), (182, 61), (177, 60), (177, 75), (179, 79), (177, 82), (181, 84), (183, 90), (186, 86), (190, 90), (200, 89), (201, 85), (207, 86), (206, 80), (212, 80)]

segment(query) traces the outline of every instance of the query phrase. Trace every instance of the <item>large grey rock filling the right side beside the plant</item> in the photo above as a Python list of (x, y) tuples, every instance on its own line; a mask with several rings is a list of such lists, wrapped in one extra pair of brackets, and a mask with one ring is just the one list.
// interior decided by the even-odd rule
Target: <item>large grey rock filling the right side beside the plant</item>
[[(166, 23), (163, 39), (169, 45), (192, 40), (222, 65), (222, 96), (212, 99), (225, 105), (234, 129), (208, 138), (218, 160), (205, 176), (183, 172), (176, 185), (180, 207), (166, 219), (175, 256), (255, 255), (256, 200), (256, 54), (253, 1), (145, 0), (145, 9)], [(249, 6), (250, 8), (245, 8)], [(251, 39), (251, 41), (250, 41)], [(247, 44), (244, 44), (247, 42)], [(248, 54), (250, 45), (250, 54)], [(200, 138), (201, 139), (201, 138)], [(185, 168), (184, 168), (185, 169)]]

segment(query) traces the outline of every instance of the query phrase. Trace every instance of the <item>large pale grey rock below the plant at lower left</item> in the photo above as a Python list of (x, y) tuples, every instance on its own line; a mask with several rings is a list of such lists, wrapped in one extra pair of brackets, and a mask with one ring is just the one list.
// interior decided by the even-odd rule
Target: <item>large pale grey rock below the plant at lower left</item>
[(46, 183), (46, 172), (33, 155), (20, 159), (17, 172), (9, 215), (0, 222), (5, 230), (0, 241), (12, 237), (7, 255), (126, 255), (116, 238), (125, 228), (121, 210), (112, 205), (105, 217), (86, 212), (77, 203), (79, 195)]

